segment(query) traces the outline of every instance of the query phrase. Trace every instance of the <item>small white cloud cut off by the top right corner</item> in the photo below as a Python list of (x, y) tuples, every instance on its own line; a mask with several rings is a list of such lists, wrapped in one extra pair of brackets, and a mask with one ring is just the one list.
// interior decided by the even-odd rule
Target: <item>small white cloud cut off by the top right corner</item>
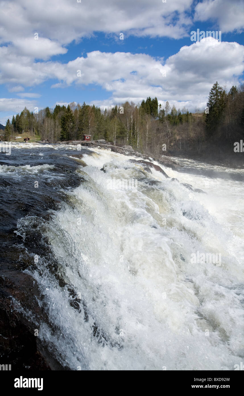
[(217, 19), (222, 32), (242, 32), (244, 29), (243, 0), (204, 0), (195, 7), (195, 20)]

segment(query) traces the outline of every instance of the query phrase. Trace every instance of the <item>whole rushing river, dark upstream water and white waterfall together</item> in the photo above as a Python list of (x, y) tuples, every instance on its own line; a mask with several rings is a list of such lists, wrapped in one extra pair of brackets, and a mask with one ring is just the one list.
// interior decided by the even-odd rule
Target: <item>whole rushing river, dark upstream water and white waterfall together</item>
[[(244, 170), (174, 158), (166, 178), (135, 158), (32, 143), (2, 154), (3, 260), (38, 286), (32, 306), (13, 298), (13, 310), (53, 369), (233, 370), (244, 357)], [(114, 178), (137, 188), (108, 188)], [(197, 252), (221, 263), (192, 263)]]

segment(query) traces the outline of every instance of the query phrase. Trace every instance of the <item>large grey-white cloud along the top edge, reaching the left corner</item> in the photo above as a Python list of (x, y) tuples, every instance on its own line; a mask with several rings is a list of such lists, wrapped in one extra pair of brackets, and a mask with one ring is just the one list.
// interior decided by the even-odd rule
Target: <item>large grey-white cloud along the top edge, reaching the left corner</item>
[[(191, 23), (186, 11), (192, 3), (193, 0), (170, 0), (166, 3), (160, 0), (106, 0), (103, 3), (98, 0), (79, 3), (75, 0), (2, 0), (1, 42), (10, 41), (36, 56), (36, 44), (30, 41), (29, 48), (24, 44), (24, 40), (34, 39), (35, 32), (43, 40), (56, 40), (61, 45), (79, 41), (94, 32), (180, 38), (187, 34), (185, 27)], [(47, 43), (45, 55), (63, 53), (59, 51), (62, 49), (58, 44)], [(42, 54), (41, 50), (39, 55)]]

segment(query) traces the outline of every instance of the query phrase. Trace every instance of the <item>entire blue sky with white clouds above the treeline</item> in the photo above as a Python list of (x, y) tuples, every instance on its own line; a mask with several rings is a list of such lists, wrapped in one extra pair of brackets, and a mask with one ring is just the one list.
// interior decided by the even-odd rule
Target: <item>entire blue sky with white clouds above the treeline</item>
[[(163, 107), (169, 101), (195, 111), (204, 109), (216, 80), (227, 90), (244, 82), (242, 0), (10, 0), (0, 6), (4, 125), (25, 106), (34, 111), (85, 101), (104, 108), (149, 95)], [(191, 41), (197, 29), (221, 30), (221, 42)]]

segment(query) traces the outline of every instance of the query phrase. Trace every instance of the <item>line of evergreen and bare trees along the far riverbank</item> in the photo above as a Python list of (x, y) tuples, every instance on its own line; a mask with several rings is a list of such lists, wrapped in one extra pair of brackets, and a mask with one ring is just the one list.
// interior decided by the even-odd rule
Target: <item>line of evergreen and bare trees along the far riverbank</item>
[[(205, 114), (206, 113), (206, 114)], [(125, 102), (112, 109), (101, 110), (95, 105), (46, 107), (38, 114), (25, 109), (6, 124), (5, 139), (28, 132), (42, 140), (82, 140), (84, 134), (92, 140), (106, 139), (115, 145), (128, 144), (152, 155), (166, 154), (164, 149), (201, 153), (216, 146), (232, 146), (243, 136), (244, 86), (232, 87), (229, 93), (219, 86), (212, 87), (204, 113), (189, 113), (166, 102), (158, 105), (157, 98), (148, 97), (141, 104)]]

